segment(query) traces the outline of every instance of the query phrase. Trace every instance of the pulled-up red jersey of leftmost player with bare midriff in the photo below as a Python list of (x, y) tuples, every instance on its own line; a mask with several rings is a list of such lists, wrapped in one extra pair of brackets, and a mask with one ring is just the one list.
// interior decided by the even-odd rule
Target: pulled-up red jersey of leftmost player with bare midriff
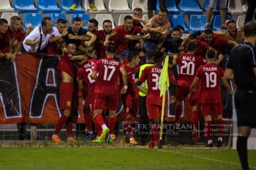
[(72, 57), (73, 57), (72, 54), (64, 52), (64, 55), (57, 66), (60, 76), (61, 76), (61, 71), (63, 71), (74, 79), (75, 69), (72, 65), (72, 62), (70, 61)]

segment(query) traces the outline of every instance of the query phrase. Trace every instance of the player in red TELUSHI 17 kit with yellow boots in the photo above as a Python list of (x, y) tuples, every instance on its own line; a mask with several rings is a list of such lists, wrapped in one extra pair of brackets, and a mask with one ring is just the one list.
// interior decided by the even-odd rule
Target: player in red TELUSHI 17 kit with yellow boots
[[(121, 94), (125, 94), (127, 90), (127, 74), (124, 69), (124, 65), (118, 60), (113, 59), (115, 51), (115, 46), (107, 46), (107, 58), (99, 59), (93, 67), (92, 78), (96, 81), (94, 90), (94, 93), (96, 94), (94, 103), (94, 116), (97, 124), (102, 127), (102, 135), (100, 136), (100, 139), (93, 140), (93, 142), (96, 143), (103, 143), (108, 133), (108, 142), (113, 141), (112, 134), (115, 128), (115, 115), (118, 106), (119, 71), (122, 73), (122, 79), (124, 81), (124, 88), (121, 90)], [(97, 73), (99, 73), (98, 76)], [(106, 126), (104, 118), (101, 115), (104, 108), (109, 110), (109, 128)]]

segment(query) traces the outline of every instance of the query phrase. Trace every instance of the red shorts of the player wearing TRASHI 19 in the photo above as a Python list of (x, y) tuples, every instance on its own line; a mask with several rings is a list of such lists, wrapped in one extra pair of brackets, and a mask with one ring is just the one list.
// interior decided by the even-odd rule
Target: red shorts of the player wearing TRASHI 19
[(222, 115), (223, 107), (222, 102), (220, 103), (202, 103), (201, 104), (202, 115), (211, 115), (212, 112), (214, 115)]

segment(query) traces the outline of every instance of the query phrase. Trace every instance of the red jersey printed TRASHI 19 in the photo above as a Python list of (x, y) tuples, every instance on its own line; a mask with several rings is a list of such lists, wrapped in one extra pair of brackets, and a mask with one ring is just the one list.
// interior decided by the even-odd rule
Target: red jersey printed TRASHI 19
[(220, 103), (220, 81), (224, 70), (216, 64), (205, 64), (198, 69), (196, 77), (200, 78), (200, 103)]

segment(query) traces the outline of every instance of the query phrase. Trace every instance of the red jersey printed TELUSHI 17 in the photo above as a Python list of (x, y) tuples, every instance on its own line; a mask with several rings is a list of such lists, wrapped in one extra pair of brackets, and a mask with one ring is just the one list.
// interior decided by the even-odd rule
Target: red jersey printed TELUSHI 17
[(111, 57), (99, 59), (93, 67), (93, 71), (99, 73), (95, 85), (95, 93), (117, 95), (119, 70), (124, 67), (122, 62)]

